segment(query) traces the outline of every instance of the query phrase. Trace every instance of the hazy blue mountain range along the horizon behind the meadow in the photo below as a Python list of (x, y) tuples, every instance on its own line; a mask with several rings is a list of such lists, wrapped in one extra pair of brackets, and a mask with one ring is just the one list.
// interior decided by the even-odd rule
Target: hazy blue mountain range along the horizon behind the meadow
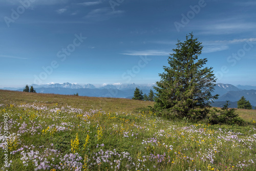
[[(89, 97), (115, 97), (115, 98), (132, 98), (135, 88), (139, 88), (143, 93), (148, 94), (153, 89), (154, 84), (138, 85), (132, 84), (104, 84), (96, 87), (93, 84), (76, 84), (76, 83), (49, 83), (49, 84), (32, 84), (37, 93), (53, 93), (63, 95), (73, 95), (78, 93), (79, 96)], [(3, 90), (23, 91), (24, 88), (0, 88)], [(237, 101), (244, 96), (249, 100), (251, 105), (256, 106), (256, 86), (233, 86), (231, 84), (217, 83), (215, 92), (219, 98), (212, 103), (212, 106), (222, 107), (226, 100), (230, 101), (231, 108), (237, 108)]]

